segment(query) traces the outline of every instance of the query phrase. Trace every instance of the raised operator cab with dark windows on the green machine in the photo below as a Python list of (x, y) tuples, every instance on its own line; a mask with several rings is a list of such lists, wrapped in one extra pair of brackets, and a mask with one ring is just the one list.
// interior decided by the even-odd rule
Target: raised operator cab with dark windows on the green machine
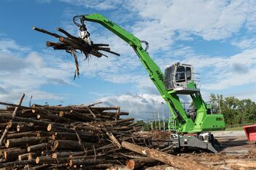
[(167, 90), (174, 90), (178, 94), (191, 94), (199, 91), (195, 83), (192, 65), (177, 62), (166, 67), (164, 84)]

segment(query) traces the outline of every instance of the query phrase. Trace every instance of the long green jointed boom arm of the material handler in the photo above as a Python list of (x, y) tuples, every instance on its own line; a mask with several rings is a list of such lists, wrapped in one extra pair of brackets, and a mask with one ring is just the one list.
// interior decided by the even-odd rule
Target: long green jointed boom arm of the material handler
[(166, 100), (168, 108), (170, 109), (173, 118), (177, 120), (177, 124), (180, 127), (180, 129), (177, 130), (192, 131), (192, 129), (189, 128), (193, 127), (193, 121), (190, 118), (187, 118), (185, 110), (183, 109), (182, 103), (179, 101), (179, 97), (177, 96), (176, 92), (168, 92), (166, 90), (166, 87), (163, 83), (163, 73), (158, 67), (158, 65), (156, 65), (156, 63), (149, 56), (147, 51), (145, 51), (145, 49), (142, 48), (141, 42), (143, 41), (140, 41), (138, 38), (136, 38), (136, 36), (133, 36), (131, 33), (128, 33), (128, 31), (125, 31), (123, 28), (120, 28), (120, 26), (116, 25), (103, 15), (84, 15), (82, 17), (82, 20), (100, 23), (105, 28), (109, 29), (109, 31), (112, 31), (112, 33), (115, 33), (117, 36), (119, 36), (121, 39), (123, 39), (125, 42), (127, 42), (128, 44), (130, 44), (130, 46), (133, 47), (134, 51), (139, 56), (139, 60), (141, 61), (142, 65), (144, 66), (144, 68), (146, 68), (147, 72), (149, 73), (152, 82), (157, 87), (163, 99)]

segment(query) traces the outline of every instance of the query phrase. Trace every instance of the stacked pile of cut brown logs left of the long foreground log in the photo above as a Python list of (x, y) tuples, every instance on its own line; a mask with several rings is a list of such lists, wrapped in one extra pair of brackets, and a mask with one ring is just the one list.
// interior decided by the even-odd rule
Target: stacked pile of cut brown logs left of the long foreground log
[(0, 149), (0, 168), (108, 168), (128, 160), (120, 155), (124, 149), (118, 141), (131, 141), (140, 128), (133, 118), (120, 118), (128, 115), (120, 107), (19, 106), (12, 116), (18, 105), (4, 104), (9, 106), (0, 110), (0, 136), (6, 127), (8, 132)]

